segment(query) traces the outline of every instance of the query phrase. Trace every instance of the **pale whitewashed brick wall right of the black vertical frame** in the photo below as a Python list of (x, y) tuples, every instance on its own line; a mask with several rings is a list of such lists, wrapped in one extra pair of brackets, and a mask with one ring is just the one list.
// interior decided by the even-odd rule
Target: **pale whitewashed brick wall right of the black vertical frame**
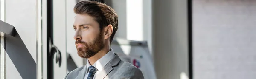
[(256, 0), (193, 0), (194, 79), (256, 78)]

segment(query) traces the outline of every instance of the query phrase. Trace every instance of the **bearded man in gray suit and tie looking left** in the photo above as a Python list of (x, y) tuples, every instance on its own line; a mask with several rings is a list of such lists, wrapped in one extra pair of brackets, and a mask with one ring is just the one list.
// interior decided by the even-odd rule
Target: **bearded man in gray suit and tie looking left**
[(116, 12), (104, 3), (81, 1), (74, 7), (74, 39), (78, 55), (87, 64), (64, 79), (144, 79), (134, 65), (122, 61), (110, 48), (118, 29)]

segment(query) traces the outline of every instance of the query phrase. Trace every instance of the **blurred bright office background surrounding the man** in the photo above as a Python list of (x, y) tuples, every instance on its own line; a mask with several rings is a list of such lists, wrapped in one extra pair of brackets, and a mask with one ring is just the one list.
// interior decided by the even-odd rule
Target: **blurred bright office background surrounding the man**
[[(85, 65), (73, 40), (80, 1), (0, 0), (0, 79), (63, 79)], [(256, 78), (256, 0), (93, 1), (116, 11), (111, 48), (145, 79)]]

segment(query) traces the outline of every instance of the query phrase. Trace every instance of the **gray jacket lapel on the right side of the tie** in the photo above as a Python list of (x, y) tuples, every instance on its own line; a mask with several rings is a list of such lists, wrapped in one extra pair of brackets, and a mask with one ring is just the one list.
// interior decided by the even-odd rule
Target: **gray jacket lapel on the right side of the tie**
[[(121, 61), (121, 59), (119, 58), (119, 56), (115, 53), (115, 57), (113, 59), (111, 59), (107, 65), (105, 65), (105, 67), (102, 69), (102, 71), (97, 74), (95, 79), (104, 79), (105, 76), (108, 75), (108, 73), (110, 71), (113, 70), (113, 66), (116, 66), (119, 62)], [(105, 78), (105, 79), (109, 79), (109, 78)]]

